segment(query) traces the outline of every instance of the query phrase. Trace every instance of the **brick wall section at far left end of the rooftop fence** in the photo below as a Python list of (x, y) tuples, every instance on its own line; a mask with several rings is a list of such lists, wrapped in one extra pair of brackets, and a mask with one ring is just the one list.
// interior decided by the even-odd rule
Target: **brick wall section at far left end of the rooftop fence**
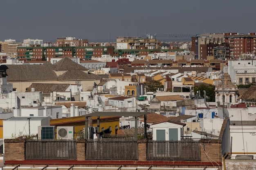
[(5, 161), (25, 160), (25, 139), (4, 139)]

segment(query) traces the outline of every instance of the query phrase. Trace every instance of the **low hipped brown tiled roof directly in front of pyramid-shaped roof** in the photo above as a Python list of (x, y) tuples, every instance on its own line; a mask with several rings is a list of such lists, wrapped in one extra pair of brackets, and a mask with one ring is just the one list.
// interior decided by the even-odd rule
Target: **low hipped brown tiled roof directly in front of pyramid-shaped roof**
[(58, 76), (58, 80), (85, 80), (85, 79), (101, 79), (96, 74), (88, 74), (80, 70), (68, 70), (62, 75)]

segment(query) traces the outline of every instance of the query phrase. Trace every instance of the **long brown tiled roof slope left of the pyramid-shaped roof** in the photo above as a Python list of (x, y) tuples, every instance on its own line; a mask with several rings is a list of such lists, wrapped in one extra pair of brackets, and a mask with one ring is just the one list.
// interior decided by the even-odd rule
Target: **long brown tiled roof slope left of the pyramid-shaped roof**
[(8, 65), (6, 67), (8, 82), (57, 79), (52, 64)]

